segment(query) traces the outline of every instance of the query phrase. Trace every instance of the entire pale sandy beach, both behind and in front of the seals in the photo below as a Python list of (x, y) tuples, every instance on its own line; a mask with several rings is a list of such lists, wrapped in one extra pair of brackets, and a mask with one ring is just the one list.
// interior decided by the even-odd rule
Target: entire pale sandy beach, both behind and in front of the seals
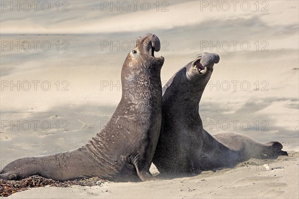
[(95, 0), (11, 11), (7, 2), (0, 12), (0, 169), (78, 148), (99, 132), (121, 98), (124, 59), (147, 32), (161, 41), (162, 84), (200, 52), (219, 54), (199, 106), (210, 134), (275, 140), (290, 154), (197, 176), (37, 188), (8, 198), (299, 198), (298, 1), (246, 1), (248, 10), (243, 1), (235, 10), (231, 1), (230, 8), (213, 1), (218, 10), (210, 1), (159, 1), (158, 8), (149, 1), (148, 11), (141, 3), (124, 11), (121, 2), (111, 11)]

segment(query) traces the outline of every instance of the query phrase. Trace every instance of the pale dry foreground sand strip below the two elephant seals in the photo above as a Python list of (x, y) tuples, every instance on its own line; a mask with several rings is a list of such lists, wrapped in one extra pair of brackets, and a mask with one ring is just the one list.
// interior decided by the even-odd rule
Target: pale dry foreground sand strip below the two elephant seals
[(11, 199), (128, 199), (128, 198), (227, 198), (297, 199), (298, 152), (278, 160), (251, 159), (234, 169), (203, 172), (193, 177), (142, 183), (105, 183), (102, 186), (72, 188), (34, 188), (16, 193)]

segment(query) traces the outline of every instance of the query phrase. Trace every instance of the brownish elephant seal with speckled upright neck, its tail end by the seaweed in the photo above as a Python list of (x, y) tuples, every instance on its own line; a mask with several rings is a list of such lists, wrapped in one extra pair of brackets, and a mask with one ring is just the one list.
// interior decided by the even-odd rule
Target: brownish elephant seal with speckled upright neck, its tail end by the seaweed
[[(151, 180), (149, 167), (161, 125), (163, 57), (154, 57), (160, 41), (154, 34), (139, 37), (122, 68), (122, 99), (107, 126), (78, 149), (15, 160), (0, 171), (1, 179), (40, 175), (53, 180), (97, 176)], [(137, 175), (136, 175), (137, 174)], [(137, 177), (138, 178), (138, 177)]]

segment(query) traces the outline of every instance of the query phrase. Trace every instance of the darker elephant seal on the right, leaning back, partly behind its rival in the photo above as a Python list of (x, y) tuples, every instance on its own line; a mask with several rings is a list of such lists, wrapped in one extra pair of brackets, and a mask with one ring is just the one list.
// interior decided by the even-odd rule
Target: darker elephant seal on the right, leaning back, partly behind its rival
[(163, 87), (162, 124), (153, 157), (161, 173), (200, 173), (249, 158), (288, 155), (279, 142), (260, 144), (235, 133), (211, 136), (203, 129), (199, 101), (218, 62), (217, 54), (202, 53)]

